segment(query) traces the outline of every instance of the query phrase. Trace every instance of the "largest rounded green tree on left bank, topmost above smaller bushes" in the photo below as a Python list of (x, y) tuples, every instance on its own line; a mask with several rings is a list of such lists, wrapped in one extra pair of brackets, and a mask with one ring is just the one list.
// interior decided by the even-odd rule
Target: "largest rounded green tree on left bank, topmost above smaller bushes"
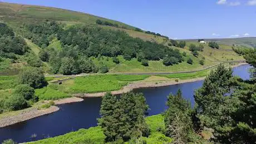
[(27, 84), (33, 88), (47, 86), (43, 72), (39, 68), (25, 67), (19, 73), (19, 84)]

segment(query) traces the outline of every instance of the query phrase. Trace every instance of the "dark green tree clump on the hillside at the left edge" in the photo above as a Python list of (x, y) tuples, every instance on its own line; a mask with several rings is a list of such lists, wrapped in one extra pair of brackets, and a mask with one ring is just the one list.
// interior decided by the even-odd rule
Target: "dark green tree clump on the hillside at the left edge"
[(17, 59), (15, 54), (23, 55), (27, 51), (24, 39), (16, 36), (5, 23), (0, 23), (0, 57)]

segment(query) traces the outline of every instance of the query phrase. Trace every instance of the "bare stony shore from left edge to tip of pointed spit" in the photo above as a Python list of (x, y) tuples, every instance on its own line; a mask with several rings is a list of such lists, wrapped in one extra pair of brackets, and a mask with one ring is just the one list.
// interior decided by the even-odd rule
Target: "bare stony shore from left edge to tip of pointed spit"
[[(65, 103), (82, 102), (82, 101), (83, 101), (82, 98), (70, 97), (70, 98), (63, 98), (61, 100), (55, 100), (54, 102), (55, 102), (55, 105), (62, 105)], [(27, 121), (32, 118), (47, 115), (60, 110), (60, 108), (57, 106), (51, 106), (49, 108), (42, 109), (40, 108), (40, 106), (42, 106), (43, 103), (46, 104), (48, 103), (48, 101), (44, 101), (41, 103), (41, 105), (38, 105), (38, 106), (26, 108), (20, 111), (13, 111), (13, 113), (9, 112), (8, 115), (6, 114), (6, 116), (2, 116), (0, 118), (0, 128), (13, 125), (19, 122)]]

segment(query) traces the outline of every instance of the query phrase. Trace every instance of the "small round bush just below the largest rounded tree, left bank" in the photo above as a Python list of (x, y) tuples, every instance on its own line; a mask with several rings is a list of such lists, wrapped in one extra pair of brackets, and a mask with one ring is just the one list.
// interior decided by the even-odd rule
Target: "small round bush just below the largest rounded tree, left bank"
[(30, 87), (29, 85), (18, 85), (15, 87), (13, 93), (17, 95), (21, 95), (24, 97), (25, 100), (31, 100), (32, 98), (35, 98), (35, 90), (34, 88)]

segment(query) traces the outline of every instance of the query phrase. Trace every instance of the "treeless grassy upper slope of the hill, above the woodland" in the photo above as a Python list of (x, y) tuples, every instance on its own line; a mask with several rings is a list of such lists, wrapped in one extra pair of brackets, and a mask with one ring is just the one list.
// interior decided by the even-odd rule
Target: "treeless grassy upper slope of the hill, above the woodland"
[(93, 16), (87, 13), (69, 11), (67, 9), (60, 8), (31, 6), (26, 4), (0, 2), (0, 16), (3, 21), (12, 23), (14, 25), (18, 24), (18, 22), (35, 22), (35, 20), (42, 21), (45, 19), (63, 22), (66, 21), (71, 23), (96, 24), (96, 20), (101, 19), (102, 21), (116, 23), (119, 26), (127, 29), (134, 29), (134, 27), (125, 23)]

